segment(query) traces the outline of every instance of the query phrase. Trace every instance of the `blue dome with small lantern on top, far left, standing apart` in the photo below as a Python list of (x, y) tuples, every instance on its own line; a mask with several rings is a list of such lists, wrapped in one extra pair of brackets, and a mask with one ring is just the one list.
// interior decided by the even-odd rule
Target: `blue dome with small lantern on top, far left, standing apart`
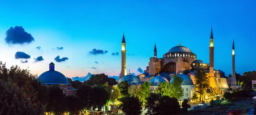
[(67, 81), (67, 78), (58, 71), (54, 70), (54, 63), (49, 64), (49, 71), (42, 73), (38, 78), (41, 80), (42, 84), (45, 85), (61, 85), (61, 84), (70, 84)]

